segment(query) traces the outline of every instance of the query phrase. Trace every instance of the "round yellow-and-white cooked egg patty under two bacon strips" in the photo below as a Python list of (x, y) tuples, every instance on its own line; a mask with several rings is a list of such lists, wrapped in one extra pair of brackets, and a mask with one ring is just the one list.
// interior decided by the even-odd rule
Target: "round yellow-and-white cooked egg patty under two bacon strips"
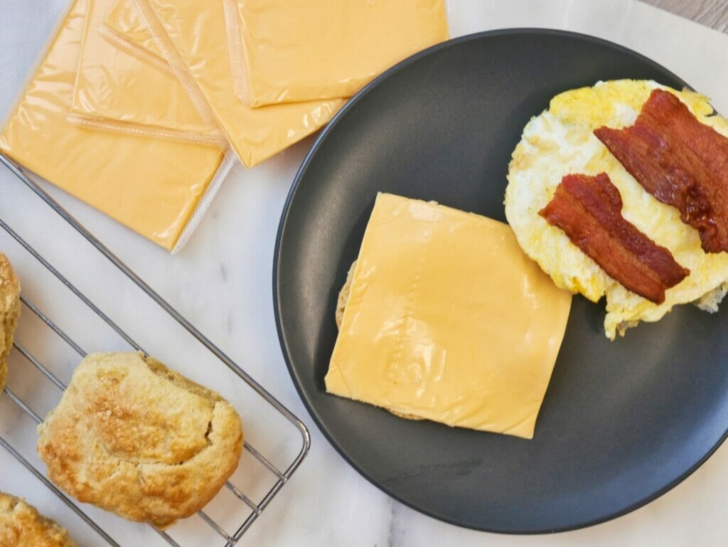
[[(548, 110), (531, 118), (508, 168), (505, 214), (518, 243), (558, 287), (593, 302), (606, 295), (604, 331), (609, 339), (639, 321), (660, 320), (676, 304), (694, 302), (704, 310), (716, 311), (728, 288), (728, 253), (706, 254), (697, 230), (680, 220), (676, 208), (648, 194), (592, 133), (603, 125), (632, 125), (657, 87), (674, 93), (700, 122), (728, 136), (728, 121), (714, 115), (708, 98), (699, 93), (672, 90), (652, 81), (598, 82), (594, 87), (556, 95)], [(687, 278), (666, 291), (662, 304), (625, 289), (561, 229), (539, 216), (564, 175), (602, 172), (622, 194), (622, 216), (690, 269)]]

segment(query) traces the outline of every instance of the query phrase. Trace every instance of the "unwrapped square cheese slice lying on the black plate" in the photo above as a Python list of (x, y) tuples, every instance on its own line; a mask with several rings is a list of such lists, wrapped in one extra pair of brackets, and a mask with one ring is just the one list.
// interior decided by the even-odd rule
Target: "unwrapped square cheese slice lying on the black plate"
[(507, 224), (379, 194), (326, 390), (532, 438), (570, 307)]

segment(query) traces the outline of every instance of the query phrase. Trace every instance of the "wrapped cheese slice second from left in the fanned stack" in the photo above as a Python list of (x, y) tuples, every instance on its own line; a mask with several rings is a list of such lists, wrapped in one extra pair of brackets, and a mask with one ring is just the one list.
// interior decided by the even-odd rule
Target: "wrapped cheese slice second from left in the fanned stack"
[[(136, 135), (215, 143), (178, 80), (117, 49), (100, 34), (115, 0), (87, 0), (86, 25), (69, 119), (79, 125)], [(223, 138), (218, 135), (218, 141)]]

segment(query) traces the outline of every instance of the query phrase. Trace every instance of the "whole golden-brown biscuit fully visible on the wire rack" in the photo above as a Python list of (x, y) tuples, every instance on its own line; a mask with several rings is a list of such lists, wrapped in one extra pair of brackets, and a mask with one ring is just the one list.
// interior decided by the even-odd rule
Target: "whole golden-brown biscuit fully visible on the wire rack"
[(159, 528), (215, 497), (242, 452), (229, 402), (142, 353), (88, 355), (38, 430), (55, 484)]

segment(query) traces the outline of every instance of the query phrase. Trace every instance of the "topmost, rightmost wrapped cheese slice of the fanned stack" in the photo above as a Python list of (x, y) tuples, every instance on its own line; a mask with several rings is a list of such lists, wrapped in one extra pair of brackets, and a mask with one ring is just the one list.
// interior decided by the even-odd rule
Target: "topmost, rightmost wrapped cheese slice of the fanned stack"
[(220, 0), (235, 93), (250, 106), (350, 97), (448, 39), (444, 0)]

